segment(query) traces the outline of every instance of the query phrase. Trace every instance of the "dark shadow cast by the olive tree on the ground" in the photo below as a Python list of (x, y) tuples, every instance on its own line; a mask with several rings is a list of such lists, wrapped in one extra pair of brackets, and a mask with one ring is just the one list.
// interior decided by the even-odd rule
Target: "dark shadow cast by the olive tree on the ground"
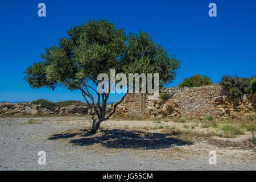
[(75, 134), (58, 134), (53, 135), (49, 139), (73, 138), (76, 135), (80, 138), (71, 139), (69, 143), (76, 146), (91, 146), (93, 144), (101, 144), (106, 148), (134, 148), (134, 149), (157, 149), (168, 148), (174, 146), (184, 146), (193, 144), (177, 139), (172, 134), (164, 133), (146, 133), (142, 131), (128, 131), (121, 129), (107, 130), (108, 135), (96, 134), (91, 135), (88, 132)]

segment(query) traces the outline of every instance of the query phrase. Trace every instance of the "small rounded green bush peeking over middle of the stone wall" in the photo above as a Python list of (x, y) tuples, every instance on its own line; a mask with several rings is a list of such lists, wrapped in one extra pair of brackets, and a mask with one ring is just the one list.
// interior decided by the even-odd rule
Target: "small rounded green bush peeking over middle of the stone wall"
[(179, 84), (179, 87), (198, 87), (210, 84), (212, 84), (212, 82), (210, 81), (209, 77), (197, 74), (193, 75), (190, 78), (185, 78), (185, 80), (181, 84)]

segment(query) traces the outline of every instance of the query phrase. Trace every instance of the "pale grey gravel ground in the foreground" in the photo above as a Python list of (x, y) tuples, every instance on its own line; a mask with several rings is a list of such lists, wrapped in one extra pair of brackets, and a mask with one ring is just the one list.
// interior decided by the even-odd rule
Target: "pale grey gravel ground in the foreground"
[[(236, 156), (230, 159), (217, 155), (217, 164), (210, 165), (206, 154), (177, 151), (170, 152), (167, 158), (158, 149), (95, 150), (49, 139), (52, 134), (75, 129), (77, 125), (27, 121), (28, 118), (1, 119), (0, 170), (255, 170), (256, 167), (255, 160), (236, 159)], [(38, 164), (39, 151), (46, 152), (46, 165)]]

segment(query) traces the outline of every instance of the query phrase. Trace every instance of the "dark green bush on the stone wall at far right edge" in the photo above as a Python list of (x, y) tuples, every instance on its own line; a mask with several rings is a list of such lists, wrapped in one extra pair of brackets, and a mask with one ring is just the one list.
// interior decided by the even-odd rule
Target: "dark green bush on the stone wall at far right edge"
[(251, 78), (240, 78), (237, 75), (224, 75), (221, 77), (220, 85), (230, 91), (232, 97), (242, 97), (243, 94), (253, 93), (256, 90), (256, 76)]

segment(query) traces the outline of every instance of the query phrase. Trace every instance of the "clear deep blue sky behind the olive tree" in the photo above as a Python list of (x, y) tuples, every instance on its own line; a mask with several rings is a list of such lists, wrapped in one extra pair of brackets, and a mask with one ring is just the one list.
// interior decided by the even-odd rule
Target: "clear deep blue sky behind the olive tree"
[[(46, 3), (46, 17), (38, 4)], [(208, 5), (217, 5), (217, 17)], [(256, 1), (1, 1), (0, 100), (81, 100), (80, 92), (57, 88), (31, 89), (23, 81), (24, 69), (39, 60), (44, 48), (66, 36), (68, 28), (88, 19), (108, 19), (126, 32), (147, 31), (181, 61), (176, 86), (196, 73), (217, 83), (222, 75), (255, 75)], [(113, 95), (109, 101), (116, 101)]]

